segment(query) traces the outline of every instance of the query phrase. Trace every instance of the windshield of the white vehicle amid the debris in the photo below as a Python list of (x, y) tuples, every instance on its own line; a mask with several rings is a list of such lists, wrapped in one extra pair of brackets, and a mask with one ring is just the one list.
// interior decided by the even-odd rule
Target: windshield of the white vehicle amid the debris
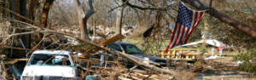
[[(45, 64), (44, 64), (45, 63)], [(71, 66), (67, 55), (58, 54), (33, 54), (29, 66)]]

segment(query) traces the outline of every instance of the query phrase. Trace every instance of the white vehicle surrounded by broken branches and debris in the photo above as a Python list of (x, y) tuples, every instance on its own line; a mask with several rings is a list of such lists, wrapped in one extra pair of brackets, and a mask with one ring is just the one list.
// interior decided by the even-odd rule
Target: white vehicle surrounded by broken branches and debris
[(77, 73), (70, 51), (38, 50), (32, 56), (21, 80), (76, 80)]

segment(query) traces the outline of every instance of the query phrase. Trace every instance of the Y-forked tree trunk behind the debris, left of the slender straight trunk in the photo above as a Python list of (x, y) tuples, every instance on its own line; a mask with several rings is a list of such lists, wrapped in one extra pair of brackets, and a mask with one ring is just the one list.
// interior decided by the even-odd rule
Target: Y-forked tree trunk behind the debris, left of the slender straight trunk
[(90, 10), (85, 14), (83, 6), (79, 2), (79, 0), (74, 0), (74, 3), (76, 4), (78, 8), (78, 14), (79, 14), (79, 26), (80, 26), (80, 31), (81, 31), (81, 38), (88, 40), (89, 41), (89, 35), (87, 31), (87, 20), (89, 19), (91, 14), (95, 13), (95, 10), (92, 7), (92, 1), (89, 0), (88, 4), (90, 6)]

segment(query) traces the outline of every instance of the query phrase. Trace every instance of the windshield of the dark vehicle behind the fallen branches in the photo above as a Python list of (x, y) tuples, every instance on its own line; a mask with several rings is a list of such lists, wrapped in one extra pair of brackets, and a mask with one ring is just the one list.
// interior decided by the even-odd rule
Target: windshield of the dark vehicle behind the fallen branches
[(141, 49), (138, 49), (136, 45), (132, 44), (121, 44), (126, 54), (143, 54)]

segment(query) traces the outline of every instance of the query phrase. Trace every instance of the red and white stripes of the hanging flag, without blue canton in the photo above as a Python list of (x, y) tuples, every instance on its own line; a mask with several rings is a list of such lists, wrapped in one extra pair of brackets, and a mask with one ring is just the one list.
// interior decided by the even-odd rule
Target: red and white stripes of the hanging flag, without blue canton
[(192, 24), (191, 24), (192, 27), (190, 27), (190, 29), (186, 26), (176, 23), (174, 26), (174, 31), (172, 33), (171, 41), (169, 43), (169, 46), (166, 48), (166, 52), (178, 44), (187, 43), (189, 36), (191, 35), (192, 31), (194, 31), (195, 29), (195, 26), (199, 24), (202, 16), (206, 13), (207, 13), (207, 10), (193, 11)]

